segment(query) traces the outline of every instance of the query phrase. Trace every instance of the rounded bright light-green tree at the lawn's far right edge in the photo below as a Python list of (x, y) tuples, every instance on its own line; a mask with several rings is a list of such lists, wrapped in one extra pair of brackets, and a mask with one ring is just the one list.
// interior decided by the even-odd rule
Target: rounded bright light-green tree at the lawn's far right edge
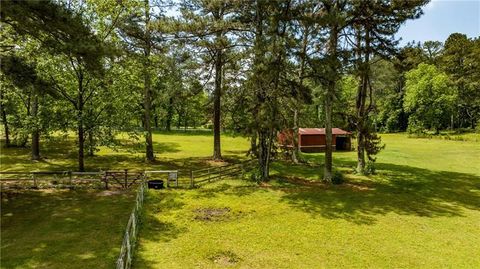
[(410, 113), (408, 130), (436, 133), (448, 126), (457, 92), (448, 76), (434, 65), (419, 64), (406, 74), (404, 107)]

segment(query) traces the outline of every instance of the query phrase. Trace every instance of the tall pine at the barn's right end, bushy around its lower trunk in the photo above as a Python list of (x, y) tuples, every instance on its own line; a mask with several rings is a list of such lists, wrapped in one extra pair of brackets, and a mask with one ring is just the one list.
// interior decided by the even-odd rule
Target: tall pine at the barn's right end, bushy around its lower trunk
[[(375, 55), (389, 55), (398, 41), (394, 34), (407, 19), (418, 18), (422, 14), (421, 6), (427, 0), (416, 1), (358, 1), (352, 3), (350, 10), (351, 30), (355, 37), (352, 43), (355, 73), (359, 77), (356, 98), (357, 115), (357, 172), (365, 171), (365, 154), (373, 160), (380, 149), (380, 138), (372, 133), (371, 113), (375, 110), (374, 92), (371, 80), (371, 59)], [(368, 146), (367, 146), (368, 145)]]

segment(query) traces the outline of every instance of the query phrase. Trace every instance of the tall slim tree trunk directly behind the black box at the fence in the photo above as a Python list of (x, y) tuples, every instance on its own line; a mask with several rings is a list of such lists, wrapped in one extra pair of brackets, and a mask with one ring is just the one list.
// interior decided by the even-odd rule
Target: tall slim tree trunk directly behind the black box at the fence
[(152, 106), (152, 97), (151, 97), (151, 77), (150, 77), (150, 5), (148, 0), (145, 0), (145, 49), (144, 49), (144, 63), (143, 63), (143, 72), (144, 72), (144, 107), (145, 107), (145, 146), (146, 146), (146, 158), (147, 161), (154, 161), (155, 156), (153, 155), (153, 141), (152, 141), (152, 127), (150, 122), (151, 116), (151, 106)]

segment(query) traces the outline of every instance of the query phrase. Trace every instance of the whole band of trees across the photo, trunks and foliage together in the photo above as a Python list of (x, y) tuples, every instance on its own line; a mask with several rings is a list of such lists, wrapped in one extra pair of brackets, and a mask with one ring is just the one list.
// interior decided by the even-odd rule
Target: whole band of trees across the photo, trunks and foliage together
[(427, 2), (2, 2), (6, 145), (30, 144), (38, 159), (40, 137), (75, 131), (83, 170), (85, 151), (119, 132), (141, 134), (153, 161), (153, 128), (211, 127), (213, 159), (230, 129), (250, 137), (267, 180), (279, 131), (325, 126), (331, 181), (335, 126), (355, 132), (365, 173), (377, 131), (478, 124), (478, 39), (398, 48)]

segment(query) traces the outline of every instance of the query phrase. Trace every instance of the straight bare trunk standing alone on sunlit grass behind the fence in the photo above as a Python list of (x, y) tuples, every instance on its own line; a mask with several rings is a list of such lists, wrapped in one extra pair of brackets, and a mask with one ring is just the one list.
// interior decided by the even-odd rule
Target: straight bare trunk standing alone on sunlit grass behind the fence
[(222, 50), (217, 49), (215, 55), (215, 91), (213, 93), (213, 159), (221, 160), (220, 148), (220, 98), (222, 94)]

